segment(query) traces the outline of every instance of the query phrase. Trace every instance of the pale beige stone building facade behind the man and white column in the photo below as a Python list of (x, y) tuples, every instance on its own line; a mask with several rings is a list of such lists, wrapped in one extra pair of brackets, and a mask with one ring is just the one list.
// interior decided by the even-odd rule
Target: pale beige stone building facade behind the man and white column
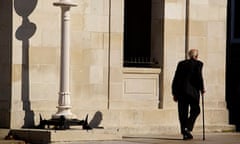
[[(129, 11), (140, 14), (135, 7), (144, 0), (135, 1), (135, 7), (128, 4), (129, 11), (127, 0), (74, 1), (71, 111), (79, 119), (88, 114), (90, 123), (125, 134), (179, 132), (171, 81), (186, 50), (197, 48), (204, 62), (206, 128), (231, 129), (225, 102), (227, 0), (146, 1), (151, 2), (147, 49), (154, 66), (125, 65), (125, 16)], [(39, 114), (48, 119), (57, 111), (61, 13), (54, 2), (0, 2), (0, 127), (32, 127), (39, 123)]]

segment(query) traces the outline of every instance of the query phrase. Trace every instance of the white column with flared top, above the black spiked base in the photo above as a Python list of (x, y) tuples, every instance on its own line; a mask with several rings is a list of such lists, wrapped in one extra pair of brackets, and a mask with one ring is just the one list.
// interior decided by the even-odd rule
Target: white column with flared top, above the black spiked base
[(74, 118), (71, 112), (69, 76), (70, 76), (70, 8), (77, 6), (71, 0), (60, 0), (53, 3), (61, 7), (61, 63), (60, 63), (60, 92), (58, 98), (58, 111), (53, 118), (65, 116)]

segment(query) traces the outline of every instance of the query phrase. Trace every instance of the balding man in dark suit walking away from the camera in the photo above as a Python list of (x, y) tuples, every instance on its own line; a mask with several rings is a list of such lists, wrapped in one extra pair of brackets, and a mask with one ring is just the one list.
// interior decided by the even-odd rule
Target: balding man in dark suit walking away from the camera
[(198, 50), (191, 49), (188, 56), (189, 59), (178, 63), (172, 82), (173, 99), (178, 102), (179, 121), (184, 140), (193, 138), (191, 131), (200, 114), (200, 93), (203, 96), (205, 92), (202, 76), (203, 63), (197, 60)]

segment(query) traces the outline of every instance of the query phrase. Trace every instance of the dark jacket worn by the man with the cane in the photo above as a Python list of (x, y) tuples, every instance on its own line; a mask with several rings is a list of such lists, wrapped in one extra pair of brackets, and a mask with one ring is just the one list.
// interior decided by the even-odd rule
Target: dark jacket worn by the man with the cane
[(177, 65), (172, 82), (172, 94), (178, 100), (192, 97), (199, 100), (200, 92), (204, 91), (203, 63), (196, 59), (180, 61)]

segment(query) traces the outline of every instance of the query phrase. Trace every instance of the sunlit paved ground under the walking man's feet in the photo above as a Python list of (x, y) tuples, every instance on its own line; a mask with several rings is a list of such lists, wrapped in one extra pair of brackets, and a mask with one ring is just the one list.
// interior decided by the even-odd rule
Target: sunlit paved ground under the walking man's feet
[(203, 141), (201, 134), (193, 140), (183, 141), (179, 135), (124, 137), (120, 141), (79, 141), (53, 144), (240, 144), (240, 133), (207, 133)]

